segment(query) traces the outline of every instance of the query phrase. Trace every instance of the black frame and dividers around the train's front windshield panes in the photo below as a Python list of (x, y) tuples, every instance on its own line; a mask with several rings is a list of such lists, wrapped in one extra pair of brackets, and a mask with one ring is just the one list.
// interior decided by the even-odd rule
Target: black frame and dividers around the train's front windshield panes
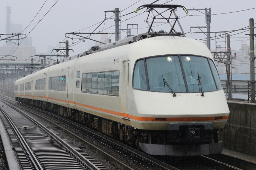
[[(187, 82), (186, 82), (186, 77), (185, 77), (185, 73), (184, 73), (184, 68), (183, 68), (183, 64), (181, 62), (181, 56), (188, 56), (188, 55), (192, 55), (192, 56), (195, 56), (195, 57), (203, 57), (203, 58), (206, 58), (207, 61), (208, 61), (208, 66), (211, 70), (211, 73), (212, 73), (212, 68), (210, 66), (210, 63), (209, 63), (209, 60), (212, 60), (210, 57), (206, 57), (206, 56), (202, 56), (202, 55), (195, 55), (195, 54), (165, 54), (165, 55), (154, 55), (154, 56), (149, 56), (149, 57), (143, 57), (143, 58), (139, 58), (137, 59), (135, 62), (134, 62), (134, 66), (133, 66), (133, 75), (132, 75), (132, 88), (133, 89), (136, 89), (136, 90), (141, 90), (141, 91), (150, 91), (150, 92), (163, 92), (163, 91), (151, 91), (149, 90), (149, 81), (148, 81), (148, 72), (147, 72), (147, 66), (146, 66), (146, 59), (148, 58), (154, 58), (154, 57), (165, 57), (165, 56), (178, 56), (179, 58), (179, 62), (180, 62), (180, 67), (181, 67), (181, 71), (182, 71), (182, 75), (183, 75), (183, 79), (184, 79), (184, 84), (185, 84), (185, 87), (186, 87), (186, 92), (176, 92), (176, 93), (198, 93), (198, 92), (189, 92), (189, 89), (188, 89), (188, 86), (187, 86)], [(139, 89), (139, 88), (134, 88), (134, 85), (133, 85), (133, 79), (134, 79), (134, 70), (135, 70), (135, 65), (137, 63), (137, 61), (139, 60), (143, 60), (144, 61), (144, 67), (145, 67), (145, 75), (146, 75), (146, 84), (147, 84), (147, 89)], [(213, 62), (214, 63), (214, 62)], [(216, 66), (215, 66), (216, 67)], [(217, 88), (217, 84), (216, 84), (216, 81), (215, 81), (215, 77), (212, 73), (212, 77), (213, 77), (213, 80), (215, 82), (215, 86), (216, 86), (216, 90), (213, 90), (213, 91), (219, 91), (222, 88), (218, 89)], [(207, 91), (207, 92), (213, 92), (213, 91)], [(171, 92), (164, 92), (164, 93), (171, 93)]]

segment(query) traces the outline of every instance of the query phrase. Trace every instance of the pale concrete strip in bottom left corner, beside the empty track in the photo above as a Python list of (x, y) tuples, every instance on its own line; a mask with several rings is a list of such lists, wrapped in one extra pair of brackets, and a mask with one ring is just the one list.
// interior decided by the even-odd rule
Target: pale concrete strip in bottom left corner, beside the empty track
[(0, 120), (0, 135), (3, 142), (3, 148), (5, 149), (5, 155), (6, 155), (6, 160), (9, 166), (9, 170), (19, 170), (20, 167), (18, 166), (16, 157), (12, 150), (12, 146), (6, 134), (5, 127), (3, 126), (2, 120)]

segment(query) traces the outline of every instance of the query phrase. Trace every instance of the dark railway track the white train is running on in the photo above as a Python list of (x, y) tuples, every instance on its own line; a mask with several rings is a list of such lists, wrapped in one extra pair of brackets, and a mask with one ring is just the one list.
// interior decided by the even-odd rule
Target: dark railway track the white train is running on
[[(174, 161), (159, 161), (155, 158), (150, 157), (142, 152), (137, 151), (134, 148), (124, 145), (123, 143), (117, 142), (114, 139), (111, 139), (105, 135), (102, 135), (96, 131), (93, 131), (87, 127), (84, 127), (76, 122), (72, 122), (66, 118), (55, 115), (53, 113), (40, 110), (31, 106), (17, 103), (9, 99), (4, 99), (9, 103), (20, 107), (27, 112), (30, 112), (38, 117), (50, 122), (54, 126), (58, 126), (59, 129), (64, 131), (66, 134), (69, 134), (70, 137), (74, 137), (76, 140), (87, 146), (89, 149), (92, 149), (94, 152), (97, 152), (102, 157), (105, 157), (111, 163), (115, 164), (115, 161), (119, 162), (115, 164), (120, 169), (151, 169), (151, 170), (164, 170), (164, 169), (173, 169), (177, 170), (180, 167), (177, 166), (177, 163)], [(70, 130), (71, 129), (71, 130)], [(89, 139), (91, 141), (89, 141)], [(100, 148), (100, 146), (105, 146), (105, 148)], [(113, 154), (114, 153), (114, 154)], [(123, 157), (120, 157), (123, 156)], [(126, 158), (126, 159), (124, 159)], [(114, 160), (113, 160), (114, 159)], [(197, 157), (198, 159), (198, 157)], [(210, 166), (197, 167), (196, 169), (227, 169), (227, 170), (241, 170), (232, 165), (223, 163), (221, 161), (214, 160), (209, 157), (201, 156), (199, 162), (205, 162), (210, 164)], [(122, 163), (122, 164), (120, 164)], [(212, 168), (214, 167), (214, 168)], [(181, 166), (181, 169), (194, 169), (194, 165), (188, 165), (187, 168)]]

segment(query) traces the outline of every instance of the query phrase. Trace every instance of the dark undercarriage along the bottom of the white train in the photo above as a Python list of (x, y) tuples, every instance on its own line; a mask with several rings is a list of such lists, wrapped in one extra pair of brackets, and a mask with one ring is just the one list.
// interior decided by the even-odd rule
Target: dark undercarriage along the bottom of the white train
[(165, 131), (139, 130), (46, 101), (19, 97), (16, 97), (15, 100), (63, 116), (150, 155), (192, 156), (222, 152), (222, 143), (218, 140), (218, 129), (213, 129), (211, 123), (168, 126)]

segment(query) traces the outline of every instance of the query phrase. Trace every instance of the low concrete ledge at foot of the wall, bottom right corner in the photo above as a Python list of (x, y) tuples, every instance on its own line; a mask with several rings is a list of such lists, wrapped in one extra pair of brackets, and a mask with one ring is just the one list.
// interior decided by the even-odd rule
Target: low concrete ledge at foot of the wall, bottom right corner
[(248, 161), (250, 163), (256, 164), (256, 157), (252, 157), (250, 155), (242, 154), (236, 151), (232, 151), (226, 148), (223, 148), (221, 154), (228, 155), (230, 157), (238, 158), (240, 160)]

